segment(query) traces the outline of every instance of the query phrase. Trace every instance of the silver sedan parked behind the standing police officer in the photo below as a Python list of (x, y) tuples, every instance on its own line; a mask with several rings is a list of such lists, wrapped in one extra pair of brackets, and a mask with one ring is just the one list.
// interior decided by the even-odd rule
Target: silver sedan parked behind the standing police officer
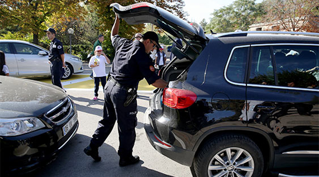
[[(22, 40), (0, 40), (0, 51), (6, 55), (10, 76), (50, 76), (49, 51)], [(83, 63), (76, 56), (64, 54), (66, 64), (62, 79), (83, 72)]]

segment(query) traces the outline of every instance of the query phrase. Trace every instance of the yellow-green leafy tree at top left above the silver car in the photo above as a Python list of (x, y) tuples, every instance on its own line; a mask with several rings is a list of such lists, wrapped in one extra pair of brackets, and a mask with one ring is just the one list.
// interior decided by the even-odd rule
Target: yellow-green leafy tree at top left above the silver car
[(0, 28), (18, 24), (22, 34), (32, 33), (33, 43), (45, 33), (45, 22), (51, 17), (56, 19), (68, 16), (81, 16), (84, 9), (82, 0), (6, 0), (0, 1)]

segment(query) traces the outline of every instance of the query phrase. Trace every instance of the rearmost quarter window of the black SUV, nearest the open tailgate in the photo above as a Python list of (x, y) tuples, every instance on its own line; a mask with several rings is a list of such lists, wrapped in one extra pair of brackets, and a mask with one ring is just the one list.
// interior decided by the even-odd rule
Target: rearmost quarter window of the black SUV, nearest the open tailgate
[(230, 81), (244, 83), (248, 48), (233, 51), (226, 76)]

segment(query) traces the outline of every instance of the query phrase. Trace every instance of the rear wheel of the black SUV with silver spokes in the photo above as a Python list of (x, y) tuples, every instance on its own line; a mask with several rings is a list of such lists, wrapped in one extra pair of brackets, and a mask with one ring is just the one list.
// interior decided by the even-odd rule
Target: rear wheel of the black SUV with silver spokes
[[(240, 156), (236, 158), (238, 154)], [(250, 138), (243, 135), (223, 135), (204, 144), (194, 158), (193, 167), (197, 177), (228, 177), (227, 174), (233, 177), (260, 177), (264, 160), (259, 147)], [(241, 175), (237, 175), (238, 173)]]

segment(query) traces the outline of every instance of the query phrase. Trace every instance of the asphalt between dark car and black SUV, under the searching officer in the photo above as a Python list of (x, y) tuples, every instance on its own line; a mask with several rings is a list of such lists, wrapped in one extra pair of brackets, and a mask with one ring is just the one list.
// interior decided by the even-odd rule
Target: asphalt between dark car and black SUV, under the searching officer
[(83, 149), (89, 145), (97, 123), (101, 119), (103, 109), (102, 91), (98, 101), (92, 100), (91, 91), (71, 90), (67, 91), (67, 94), (76, 104), (79, 121), (77, 134), (62, 149), (54, 161), (28, 174), (28, 176), (192, 176), (189, 167), (158, 153), (148, 142), (143, 128), (143, 115), (148, 106), (149, 95), (139, 94), (138, 97), (138, 124), (133, 154), (139, 155), (141, 160), (134, 165), (119, 167), (117, 124), (115, 124), (102, 147), (99, 148), (99, 154), (102, 157), (100, 162), (94, 162), (91, 157), (83, 152)]

